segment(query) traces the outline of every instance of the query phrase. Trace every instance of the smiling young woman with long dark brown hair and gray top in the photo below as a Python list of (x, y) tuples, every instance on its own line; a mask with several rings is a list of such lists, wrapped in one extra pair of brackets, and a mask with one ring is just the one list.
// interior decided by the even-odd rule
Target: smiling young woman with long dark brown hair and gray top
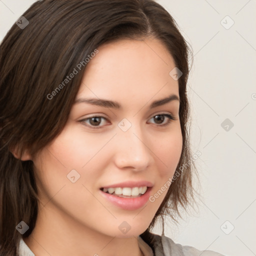
[(25, 11), (0, 45), (0, 255), (220, 255), (150, 232), (193, 198), (188, 58), (153, 0)]

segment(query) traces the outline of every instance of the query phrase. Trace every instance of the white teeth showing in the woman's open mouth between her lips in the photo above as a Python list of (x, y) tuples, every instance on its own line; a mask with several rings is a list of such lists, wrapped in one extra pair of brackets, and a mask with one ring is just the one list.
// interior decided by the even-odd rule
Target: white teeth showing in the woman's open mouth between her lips
[(133, 198), (143, 195), (149, 187), (135, 186), (135, 187), (101, 187), (100, 190), (104, 193), (112, 194), (118, 197)]

